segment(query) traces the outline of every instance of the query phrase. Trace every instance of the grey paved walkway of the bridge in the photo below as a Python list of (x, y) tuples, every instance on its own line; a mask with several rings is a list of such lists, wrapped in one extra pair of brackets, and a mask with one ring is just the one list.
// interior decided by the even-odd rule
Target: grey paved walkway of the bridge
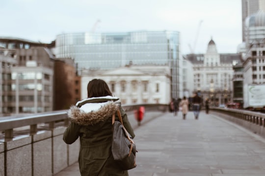
[[(131, 119), (138, 153), (130, 176), (265, 176), (265, 138), (211, 111), (198, 120), (147, 112), (139, 127)], [(78, 163), (55, 176), (80, 176)]]

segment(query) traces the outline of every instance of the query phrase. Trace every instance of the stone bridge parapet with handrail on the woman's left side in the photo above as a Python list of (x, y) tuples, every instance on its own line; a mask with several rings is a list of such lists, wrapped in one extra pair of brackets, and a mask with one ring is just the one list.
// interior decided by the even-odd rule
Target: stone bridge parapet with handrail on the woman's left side
[[(168, 110), (168, 105), (123, 106), (128, 114)], [(53, 176), (78, 160), (79, 140), (62, 141), (69, 121), (67, 110), (0, 118), (0, 176)]]

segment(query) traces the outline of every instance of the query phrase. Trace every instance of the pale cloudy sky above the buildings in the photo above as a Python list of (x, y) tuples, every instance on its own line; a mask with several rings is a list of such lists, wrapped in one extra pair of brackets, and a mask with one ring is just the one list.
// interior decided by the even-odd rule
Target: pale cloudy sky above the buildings
[(43, 43), (89, 32), (97, 20), (95, 32), (179, 31), (182, 54), (189, 44), (205, 53), (211, 37), (219, 53), (242, 42), (241, 0), (0, 0), (0, 17), (0, 36)]

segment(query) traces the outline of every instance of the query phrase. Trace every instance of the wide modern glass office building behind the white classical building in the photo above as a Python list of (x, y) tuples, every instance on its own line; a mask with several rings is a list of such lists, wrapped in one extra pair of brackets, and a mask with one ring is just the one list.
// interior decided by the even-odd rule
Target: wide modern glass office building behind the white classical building
[(66, 33), (56, 37), (56, 58), (72, 58), (78, 69), (127, 65), (167, 65), (172, 69), (172, 97), (179, 97), (180, 40), (177, 31)]

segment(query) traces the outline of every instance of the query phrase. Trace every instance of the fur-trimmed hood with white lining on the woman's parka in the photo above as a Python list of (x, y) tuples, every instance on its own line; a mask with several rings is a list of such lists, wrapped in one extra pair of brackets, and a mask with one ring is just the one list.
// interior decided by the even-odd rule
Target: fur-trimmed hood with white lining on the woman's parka
[(101, 121), (106, 121), (115, 113), (120, 104), (117, 97), (93, 97), (79, 101), (76, 106), (71, 106), (68, 117), (71, 122), (79, 125), (95, 125)]

